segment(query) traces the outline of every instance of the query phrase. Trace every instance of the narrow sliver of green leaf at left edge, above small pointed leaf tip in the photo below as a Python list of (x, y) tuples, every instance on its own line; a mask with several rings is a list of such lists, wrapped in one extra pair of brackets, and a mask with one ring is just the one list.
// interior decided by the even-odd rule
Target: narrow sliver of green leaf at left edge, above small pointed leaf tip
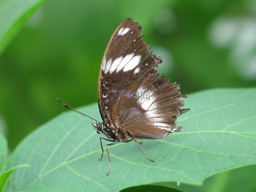
[(0, 173), (5, 171), (7, 163), (7, 141), (2, 131), (0, 130)]

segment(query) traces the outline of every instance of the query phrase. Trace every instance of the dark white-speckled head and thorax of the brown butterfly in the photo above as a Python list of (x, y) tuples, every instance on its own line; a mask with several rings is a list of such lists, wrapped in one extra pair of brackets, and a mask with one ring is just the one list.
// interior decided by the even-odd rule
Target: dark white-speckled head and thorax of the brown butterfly
[(127, 130), (123, 129), (122, 127), (117, 128), (115, 126), (107, 126), (105, 122), (96, 122), (95, 124), (92, 123), (92, 125), (94, 126), (98, 134), (102, 133), (103, 135), (106, 135), (109, 139), (113, 139), (118, 142), (125, 142), (129, 140)]

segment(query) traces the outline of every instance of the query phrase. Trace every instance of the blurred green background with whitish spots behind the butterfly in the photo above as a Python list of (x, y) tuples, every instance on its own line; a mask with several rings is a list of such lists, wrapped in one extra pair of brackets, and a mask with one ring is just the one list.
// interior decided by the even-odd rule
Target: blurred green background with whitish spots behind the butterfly
[(256, 86), (255, 14), (253, 0), (46, 1), (0, 57), (0, 127), (10, 150), (66, 110), (56, 98), (97, 102), (105, 47), (128, 17), (182, 94)]

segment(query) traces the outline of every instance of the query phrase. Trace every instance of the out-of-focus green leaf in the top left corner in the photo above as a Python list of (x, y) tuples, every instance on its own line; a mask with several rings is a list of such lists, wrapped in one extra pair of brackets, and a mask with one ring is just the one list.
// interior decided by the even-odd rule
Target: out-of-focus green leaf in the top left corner
[(0, 55), (45, 0), (0, 1)]

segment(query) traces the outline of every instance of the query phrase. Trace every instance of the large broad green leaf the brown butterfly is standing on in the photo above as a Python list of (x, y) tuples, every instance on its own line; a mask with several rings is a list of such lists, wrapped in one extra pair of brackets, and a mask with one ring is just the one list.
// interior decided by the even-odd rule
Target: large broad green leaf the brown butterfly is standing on
[[(255, 164), (255, 98), (255, 88), (189, 95), (185, 103), (191, 111), (178, 118), (185, 127), (182, 133), (142, 140), (142, 148), (155, 163), (135, 142), (120, 142), (109, 146), (109, 176), (107, 154), (97, 160), (101, 147), (91, 119), (68, 111), (20, 143), (8, 167), (27, 163), (31, 168), (15, 171), (7, 191), (118, 191), (167, 181), (200, 185), (220, 171)], [(100, 119), (96, 103), (80, 111)]]

